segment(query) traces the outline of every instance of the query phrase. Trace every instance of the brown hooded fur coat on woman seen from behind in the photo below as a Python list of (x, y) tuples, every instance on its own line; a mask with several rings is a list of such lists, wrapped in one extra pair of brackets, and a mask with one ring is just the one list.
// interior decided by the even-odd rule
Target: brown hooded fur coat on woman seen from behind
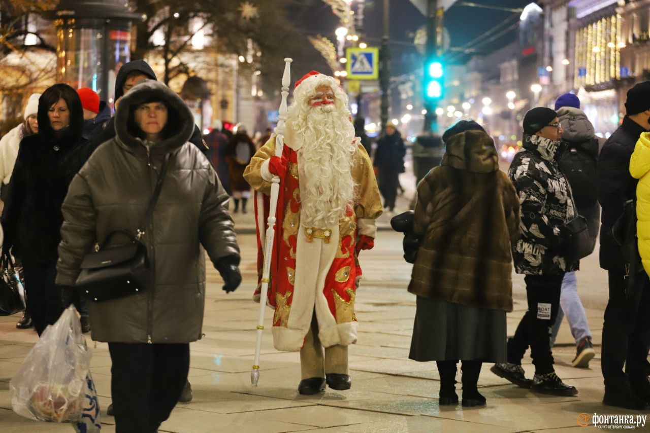
[(512, 311), (510, 241), (519, 236), (519, 200), (485, 132), (450, 138), (441, 166), (417, 186), (413, 229), (422, 243), (411, 293)]

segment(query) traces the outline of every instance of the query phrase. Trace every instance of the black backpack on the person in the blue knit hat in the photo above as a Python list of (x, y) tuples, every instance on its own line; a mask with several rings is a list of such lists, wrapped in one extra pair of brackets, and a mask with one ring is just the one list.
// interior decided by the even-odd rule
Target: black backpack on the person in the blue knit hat
[(592, 138), (578, 145), (568, 144), (568, 149), (558, 160), (558, 166), (571, 185), (576, 206), (578, 208), (593, 206), (598, 201), (595, 188), (598, 140)]

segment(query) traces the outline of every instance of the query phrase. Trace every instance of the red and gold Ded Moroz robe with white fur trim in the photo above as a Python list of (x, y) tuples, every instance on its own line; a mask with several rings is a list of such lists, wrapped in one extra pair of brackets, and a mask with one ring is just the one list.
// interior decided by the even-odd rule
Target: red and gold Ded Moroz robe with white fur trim
[[(264, 194), (263, 210), (255, 201), (258, 234), (264, 232), (263, 226), (266, 225), (272, 179), (265, 162), (275, 155), (276, 142), (272, 137), (255, 153), (244, 172), (244, 178), (255, 191)], [(361, 235), (374, 238), (374, 220), (382, 214), (372, 163), (363, 146), (357, 143), (352, 156), (352, 178), (356, 186), (354, 208), (348, 206), (338, 227), (315, 229), (304, 227), (300, 222), (298, 152), (292, 149), (291, 143), (285, 143), (283, 156), (288, 164), (285, 175), (280, 177), (278, 222), (267, 293), (268, 304), (275, 308), (274, 347), (281, 351), (299, 351), (312, 314), (316, 314), (318, 337), (324, 347), (356, 343), (354, 298), (356, 278), (361, 275), (356, 260), (356, 241)], [(261, 236), (258, 236), (257, 244), (257, 267), (261, 280), (261, 245), (264, 244)], [(258, 291), (259, 287), (258, 284)]]

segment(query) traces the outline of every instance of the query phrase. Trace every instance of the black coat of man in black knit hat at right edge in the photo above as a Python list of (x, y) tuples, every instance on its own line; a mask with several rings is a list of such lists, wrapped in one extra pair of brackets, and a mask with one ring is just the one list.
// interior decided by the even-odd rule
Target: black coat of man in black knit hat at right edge
[(625, 116), (623, 123), (603, 145), (597, 169), (598, 202), (601, 204), (601, 267), (625, 271), (621, 248), (609, 236), (612, 226), (623, 213), (623, 204), (636, 197), (637, 179), (630, 175), (630, 158), (642, 132), (647, 132)]

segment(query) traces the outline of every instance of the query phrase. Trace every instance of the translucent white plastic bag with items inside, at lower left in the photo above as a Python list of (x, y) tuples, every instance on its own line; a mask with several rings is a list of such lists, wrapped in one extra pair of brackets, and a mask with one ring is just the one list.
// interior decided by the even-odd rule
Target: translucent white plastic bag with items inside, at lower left
[(45, 328), (12, 378), (9, 384), (12, 409), (31, 419), (83, 425), (88, 425), (82, 416), (89, 409), (97, 414), (90, 425), (97, 427), (91, 430), (77, 425), (75, 429), (98, 431), (99, 407), (89, 369), (90, 352), (75, 307), (71, 305), (57, 323)]

